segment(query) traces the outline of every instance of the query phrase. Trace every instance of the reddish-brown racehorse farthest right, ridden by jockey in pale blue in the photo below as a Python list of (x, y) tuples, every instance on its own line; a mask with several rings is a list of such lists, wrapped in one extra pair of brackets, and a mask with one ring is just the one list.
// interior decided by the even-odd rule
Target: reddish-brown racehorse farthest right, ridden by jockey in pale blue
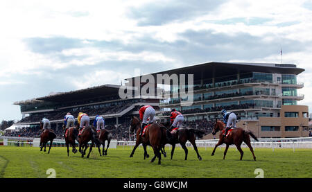
[[(246, 143), (246, 145), (250, 148), (250, 151), (252, 152), (252, 155), (254, 156), (254, 150), (252, 149), (252, 146), (250, 144), (250, 137), (254, 138), (254, 140), (258, 141), (257, 137), (254, 136), (254, 134), (250, 130), (243, 130), (242, 128), (234, 128), (232, 132), (229, 132), (229, 135), (227, 137), (223, 136), (223, 130), (225, 128), (225, 123), (222, 121), (218, 121), (216, 119), (216, 123), (214, 124), (214, 129), (212, 130), (212, 134), (216, 134), (216, 132), (220, 131), (219, 141), (214, 147), (214, 151), (212, 152), (211, 156), (214, 155), (214, 152), (216, 151), (216, 148), (223, 143), (226, 144), (226, 148), (224, 151), (223, 159), (225, 159), (225, 155), (227, 155), (227, 149), (229, 148), (229, 145), (235, 145), (236, 148), (241, 153), (241, 159), (243, 159), (243, 150), (241, 150), (241, 143)], [(240, 160), (241, 160), (240, 159)], [(256, 161), (256, 156), (254, 156), (254, 161)]]

